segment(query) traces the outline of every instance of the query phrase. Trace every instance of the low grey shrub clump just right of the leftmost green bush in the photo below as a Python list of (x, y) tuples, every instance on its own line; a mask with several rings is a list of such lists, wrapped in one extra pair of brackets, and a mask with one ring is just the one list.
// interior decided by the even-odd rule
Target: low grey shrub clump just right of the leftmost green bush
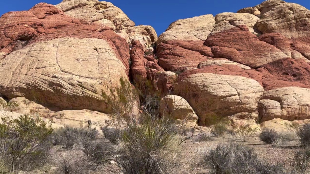
[(74, 145), (82, 145), (84, 141), (95, 140), (98, 130), (86, 128), (64, 127), (55, 129), (52, 133), (53, 145), (60, 145), (62, 148), (71, 149)]

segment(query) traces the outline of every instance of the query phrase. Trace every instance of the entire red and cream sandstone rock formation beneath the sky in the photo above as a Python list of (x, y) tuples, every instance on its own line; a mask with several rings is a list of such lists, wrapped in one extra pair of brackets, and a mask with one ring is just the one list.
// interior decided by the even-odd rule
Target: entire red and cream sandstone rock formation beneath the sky
[(39, 3), (0, 24), (0, 94), (8, 99), (107, 112), (101, 91), (123, 76), (174, 94), (163, 100), (182, 104), (170, 103), (169, 112), (194, 111), (201, 126), (213, 116), (310, 119), (310, 11), (298, 4), (267, 0), (177, 20), (158, 39), (151, 26), (97, 0)]

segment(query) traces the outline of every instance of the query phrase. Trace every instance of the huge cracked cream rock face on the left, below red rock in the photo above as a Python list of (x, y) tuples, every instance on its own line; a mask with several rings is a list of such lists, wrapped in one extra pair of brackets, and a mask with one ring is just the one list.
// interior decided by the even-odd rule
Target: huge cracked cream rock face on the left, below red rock
[(0, 91), (61, 109), (106, 111), (101, 91), (127, 74), (109, 43), (57, 38), (16, 50), (0, 60)]

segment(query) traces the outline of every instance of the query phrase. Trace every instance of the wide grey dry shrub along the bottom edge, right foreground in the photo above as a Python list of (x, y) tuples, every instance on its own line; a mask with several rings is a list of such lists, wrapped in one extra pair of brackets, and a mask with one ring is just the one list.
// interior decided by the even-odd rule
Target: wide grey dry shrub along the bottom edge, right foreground
[(281, 164), (270, 165), (259, 160), (253, 149), (239, 144), (218, 145), (203, 156), (203, 164), (215, 174), (283, 174)]

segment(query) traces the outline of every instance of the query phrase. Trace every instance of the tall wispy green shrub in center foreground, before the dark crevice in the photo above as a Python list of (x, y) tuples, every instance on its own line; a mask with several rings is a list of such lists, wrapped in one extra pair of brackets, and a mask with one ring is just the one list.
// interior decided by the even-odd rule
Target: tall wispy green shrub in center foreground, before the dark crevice
[[(133, 89), (121, 78), (120, 86), (110, 89), (110, 94), (103, 92), (102, 97), (113, 111), (109, 120), (116, 129), (123, 130), (122, 148), (117, 150), (118, 156), (113, 156), (122, 172), (155, 174), (174, 170), (176, 162), (168, 157), (176, 152), (179, 144), (176, 137), (184, 124), (160, 115), (161, 97), (152, 89), (152, 83), (136, 84)], [(138, 108), (136, 103), (141, 103), (140, 112), (135, 112)], [(108, 135), (108, 130), (103, 131)], [(118, 137), (115, 132), (112, 130), (113, 136), (106, 137)], [(113, 141), (115, 138), (110, 139)]]

